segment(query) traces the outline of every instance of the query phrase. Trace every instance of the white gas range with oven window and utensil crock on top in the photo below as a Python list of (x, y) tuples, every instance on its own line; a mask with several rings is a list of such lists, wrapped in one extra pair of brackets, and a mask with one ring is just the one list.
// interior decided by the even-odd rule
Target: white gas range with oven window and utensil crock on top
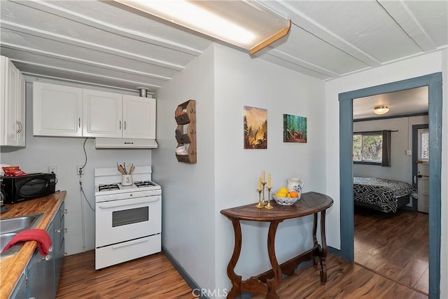
[(162, 188), (151, 166), (136, 166), (122, 186), (116, 167), (94, 169), (95, 269), (161, 251)]

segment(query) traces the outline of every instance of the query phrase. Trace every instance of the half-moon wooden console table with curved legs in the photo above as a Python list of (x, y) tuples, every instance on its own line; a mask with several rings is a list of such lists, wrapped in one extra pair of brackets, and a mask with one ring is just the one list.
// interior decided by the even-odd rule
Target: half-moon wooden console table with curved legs
[[(241, 296), (241, 292), (249, 292), (253, 294), (266, 295), (266, 298), (279, 298), (276, 293), (276, 288), (281, 282), (282, 274), (292, 275), (294, 274), (297, 266), (306, 261), (313, 260), (314, 266), (318, 265), (318, 260), (321, 261), (321, 284), (325, 284), (327, 281), (327, 269), (325, 266), (325, 257), (327, 256), (327, 244), (325, 241), (325, 211), (333, 204), (331, 197), (316, 193), (309, 192), (303, 193), (300, 200), (298, 200), (292, 206), (281, 206), (272, 203), (274, 209), (258, 209), (255, 204), (246, 204), (241, 207), (233, 207), (230, 209), (223, 209), (221, 214), (227, 216), (232, 221), (233, 229), (235, 231), (235, 248), (233, 249), (232, 258), (230, 258), (229, 265), (227, 267), (227, 274), (232, 281), (232, 289), (228, 293), (227, 298), (235, 298)], [(318, 244), (316, 232), (317, 232), (317, 214), (321, 212), (321, 240), (322, 246)], [(275, 233), (279, 223), (285, 219), (298, 218), (307, 215), (314, 215), (313, 225), (313, 248), (287, 260), (285, 263), (279, 265), (275, 256)], [(259, 274), (256, 277), (251, 277), (244, 281), (241, 281), (241, 276), (235, 274), (235, 265), (241, 252), (241, 225), (239, 221), (263, 221), (269, 222), (269, 232), (267, 233), (267, 252), (269, 253), (269, 261), (271, 262), (272, 269)]]

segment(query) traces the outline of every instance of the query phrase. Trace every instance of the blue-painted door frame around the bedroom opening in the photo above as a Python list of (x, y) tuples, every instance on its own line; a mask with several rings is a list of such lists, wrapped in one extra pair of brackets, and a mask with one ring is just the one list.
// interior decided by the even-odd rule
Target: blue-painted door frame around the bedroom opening
[(353, 99), (428, 86), (429, 116), (429, 298), (440, 297), (440, 204), (442, 167), (442, 73), (339, 94), (339, 180), (342, 258), (353, 262)]

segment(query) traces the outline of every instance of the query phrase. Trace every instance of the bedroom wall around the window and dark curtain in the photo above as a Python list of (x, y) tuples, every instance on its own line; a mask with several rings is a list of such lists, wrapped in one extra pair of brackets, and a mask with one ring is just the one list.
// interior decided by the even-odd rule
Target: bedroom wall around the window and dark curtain
[(394, 179), (412, 184), (412, 155), (406, 155), (406, 150), (412, 150), (412, 125), (427, 123), (428, 116), (354, 122), (353, 132), (379, 130), (398, 130), (398, 132), (391, 133), (391, 167), (354, 164), (353, 176)]

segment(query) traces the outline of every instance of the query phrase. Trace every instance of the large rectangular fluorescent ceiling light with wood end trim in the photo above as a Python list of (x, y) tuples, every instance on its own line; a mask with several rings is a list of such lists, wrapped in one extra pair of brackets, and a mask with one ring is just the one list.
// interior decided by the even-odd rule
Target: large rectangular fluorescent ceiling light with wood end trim
[(288, 34), (290, 20), (257, 1), (115, 0), (254, 54)]

